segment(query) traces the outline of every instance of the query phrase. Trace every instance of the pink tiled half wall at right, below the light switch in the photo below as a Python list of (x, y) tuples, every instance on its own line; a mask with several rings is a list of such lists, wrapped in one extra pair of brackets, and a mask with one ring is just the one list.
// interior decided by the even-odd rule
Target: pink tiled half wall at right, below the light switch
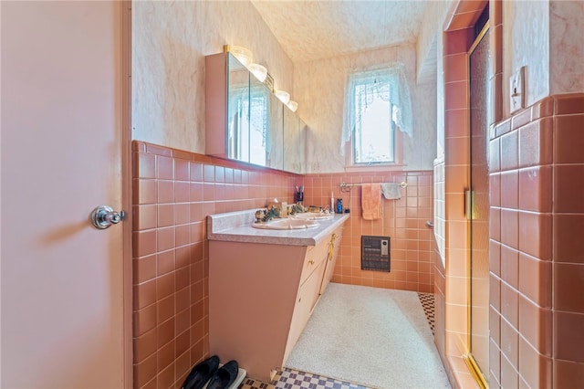
[(548, 97), (495, 128), (491, 384), (584, 383), (583, 129), (584, 94)]

